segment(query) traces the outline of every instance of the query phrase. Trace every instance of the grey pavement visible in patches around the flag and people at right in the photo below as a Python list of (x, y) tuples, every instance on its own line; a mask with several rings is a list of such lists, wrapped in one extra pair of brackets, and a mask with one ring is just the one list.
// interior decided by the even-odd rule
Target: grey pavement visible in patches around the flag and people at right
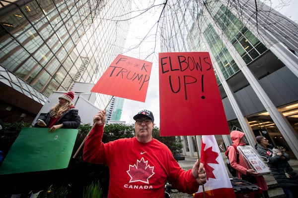
[[(225, 155), (222, 153), (223, 159), (224, 159), (224, 164), (225, 164)], [(179, 160), (178, 163), (181, 168), (183, 169), (191, 169), (194, 165), (194, 163), (197, 161), (198, 157), (190, 157), (190, 156), (185, 156), (185, 160)], [(291, 159), (289, 161), (289, 164), (293, 167), (293, 169), (298, 172), (298, 160), (297, 159)], [(227, 169), (226, 169), (227, 170)], [(227, 173), (230, 178), (232, 176), (227, 170)], [(272, 174), (264, 175), (264, 178), (267, 182), (267, 185), (269, 187), (268, 194), (270, 198), (286, 198), (283, 190), (278, 186), (276, 180), (272, 176)]]

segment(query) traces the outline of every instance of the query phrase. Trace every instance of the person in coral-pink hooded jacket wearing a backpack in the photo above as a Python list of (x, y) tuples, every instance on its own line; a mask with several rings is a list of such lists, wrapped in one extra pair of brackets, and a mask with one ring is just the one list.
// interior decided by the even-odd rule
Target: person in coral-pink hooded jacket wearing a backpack
[[(230, 133), (231, 140), (236, 146), (245, 146), (245, 134), (240, 131), (232, 131)], [(258, 176), (258, 172), (253, 169), (250, 169), (245, 163), (245, 159), (239, 153), (239, 160), (237, 161), (238, 152), (234, 147), (229, 148), (228, 158), (230, 160), (230, 165), (237, 170), (237, 177), (239, 179), (248, 180), (250, 183), (257, 185), (263, 191), (263, 198), (269, 198), (268, 195), (268, 186), (266, 180), (263, 176)], [(251, 180), (249, 179), (251, 178)]]

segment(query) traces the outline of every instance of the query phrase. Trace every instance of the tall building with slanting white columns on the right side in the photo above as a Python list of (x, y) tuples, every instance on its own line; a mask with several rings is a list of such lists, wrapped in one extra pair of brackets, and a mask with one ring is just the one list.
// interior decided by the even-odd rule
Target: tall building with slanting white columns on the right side
[[(161, 51), (208, 51), (229, 129), (243, 131), (251, 146), (263, 135), (298, 158), (298, 24), (256, 2), (166, 6)], [(181, 138), (183, 152), (194, 155), (199, 137)], [(231, 144), (227, 135), (217, 141), (223, 151)]]

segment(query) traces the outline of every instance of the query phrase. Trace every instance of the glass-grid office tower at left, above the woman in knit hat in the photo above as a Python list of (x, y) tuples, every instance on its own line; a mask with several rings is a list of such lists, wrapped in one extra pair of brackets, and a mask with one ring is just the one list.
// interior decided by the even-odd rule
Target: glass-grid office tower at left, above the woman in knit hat
[(122, 53), (129, 10), (131, 0), (0, 0), (0, 119), (32, 121), (53, 91), (95, 84)]

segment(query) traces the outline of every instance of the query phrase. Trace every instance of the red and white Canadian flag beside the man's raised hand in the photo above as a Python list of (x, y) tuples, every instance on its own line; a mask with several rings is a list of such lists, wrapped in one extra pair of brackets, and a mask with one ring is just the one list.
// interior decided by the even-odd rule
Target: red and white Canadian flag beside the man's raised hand
[[(202, 136), (200, 161), (204, 164), (207, 175), (207, 182), (204, 184), (205, 198), (236, 198), (214, 135)], [(202, 186), (194, 197), (203, 198)]]

